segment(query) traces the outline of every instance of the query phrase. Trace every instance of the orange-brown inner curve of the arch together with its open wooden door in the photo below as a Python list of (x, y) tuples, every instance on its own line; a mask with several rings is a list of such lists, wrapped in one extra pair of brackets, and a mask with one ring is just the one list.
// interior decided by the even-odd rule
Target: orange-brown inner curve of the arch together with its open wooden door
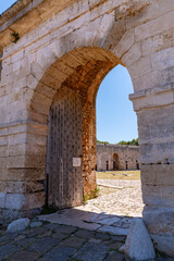
[(119, 63), (108, 50), (76, 49), (54, 62), (39, 80), (35, 97), (39, 92), (42, 107), (39, 111), (33, 98), (30, 119), (40, 121), (41, 114), (45, 124), (48, 119), (47, 206), (80, 204), (82, 196), (90, 197), (96, 189), (96, 97), (104, 76)]

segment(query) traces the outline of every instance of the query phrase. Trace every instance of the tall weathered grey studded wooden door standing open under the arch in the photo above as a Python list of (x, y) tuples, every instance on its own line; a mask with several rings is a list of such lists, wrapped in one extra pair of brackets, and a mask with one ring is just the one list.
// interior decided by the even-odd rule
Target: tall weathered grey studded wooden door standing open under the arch
[(74, 90), (58, 90), (48, 119), (47, 203), (58, 209), (83, 201), (82, 99)]

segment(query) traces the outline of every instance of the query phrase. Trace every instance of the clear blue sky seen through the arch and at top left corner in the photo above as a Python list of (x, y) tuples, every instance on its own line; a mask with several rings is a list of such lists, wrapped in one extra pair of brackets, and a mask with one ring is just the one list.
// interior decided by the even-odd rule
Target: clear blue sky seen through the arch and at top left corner
[[(0, 0), (0, 13), (16, 0)], [(97, 138), (116, 144), (138, 137), (137, 117), (128, 95), (133, 94), (127, 70), (114, 67), (103, 79), (97, 96)]]

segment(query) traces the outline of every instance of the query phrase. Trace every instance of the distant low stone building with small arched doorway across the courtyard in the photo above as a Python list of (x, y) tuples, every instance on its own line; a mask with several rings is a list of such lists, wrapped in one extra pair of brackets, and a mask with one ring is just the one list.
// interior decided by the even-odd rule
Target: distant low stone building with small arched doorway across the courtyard
[(139, 170), (139, 146), (97, 144), (96, 170)]

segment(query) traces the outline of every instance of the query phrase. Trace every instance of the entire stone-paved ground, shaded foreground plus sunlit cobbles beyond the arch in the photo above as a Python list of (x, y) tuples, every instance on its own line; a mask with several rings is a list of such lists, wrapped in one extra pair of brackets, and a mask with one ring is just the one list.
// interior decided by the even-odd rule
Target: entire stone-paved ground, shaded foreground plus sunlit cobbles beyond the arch
[[(100, 196), (85, 206), (33, 220), (22, 232), (0, 232), (0, 261), (123, 261), (134, 216), (142, 210), (138, 181), (98, 181)], [(158, 261), (172, 261), (157, 258)]]

